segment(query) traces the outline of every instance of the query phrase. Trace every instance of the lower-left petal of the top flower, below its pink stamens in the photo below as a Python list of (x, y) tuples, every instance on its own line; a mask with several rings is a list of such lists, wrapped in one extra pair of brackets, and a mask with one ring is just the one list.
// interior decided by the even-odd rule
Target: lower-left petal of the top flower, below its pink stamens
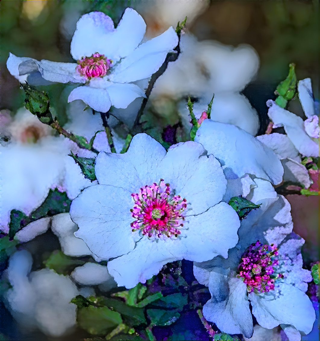
[(68, 102), (82, 100), (92, 109), (106, 113), (111, 107), (109, 93), (106, 89), (98, 89), (89, 86), (79, 86), (73, 89), (68, 97)]

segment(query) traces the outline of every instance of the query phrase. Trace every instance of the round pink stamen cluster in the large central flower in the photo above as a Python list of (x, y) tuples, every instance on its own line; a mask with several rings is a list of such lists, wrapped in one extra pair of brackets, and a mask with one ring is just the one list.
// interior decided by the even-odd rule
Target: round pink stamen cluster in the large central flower
[(148, 237), (177, 237), (183, 227), (183, 211), (187, 208), (187, 200), (180, 195), (170, 195), (170, 184), (160, 179), (159, 184), (140, 188), (139, 193), (131, 194), (134, 200), (131, 216), (132, 232), (142, 230)]

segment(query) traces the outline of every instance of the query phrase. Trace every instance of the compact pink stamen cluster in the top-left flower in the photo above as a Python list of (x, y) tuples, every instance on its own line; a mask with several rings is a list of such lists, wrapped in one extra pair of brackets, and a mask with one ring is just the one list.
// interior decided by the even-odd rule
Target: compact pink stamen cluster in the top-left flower
[(91, 57), (83, 57), (77, 63), (76, 70), (89, 80), (105, 76), (112, 66), (112, 60), (99, 53), (95, 53)]

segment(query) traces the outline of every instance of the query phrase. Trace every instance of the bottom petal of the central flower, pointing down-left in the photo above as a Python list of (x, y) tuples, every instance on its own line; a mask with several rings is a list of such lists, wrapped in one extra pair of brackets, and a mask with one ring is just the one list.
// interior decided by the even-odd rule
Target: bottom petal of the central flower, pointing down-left
[(163, 265), (179, 258), (172, 252), (179, 240), (151, 241), (145, 236), (136, 243), (134, 250), (108, 262), (108, 270), (118, 286), (133, 288), (139, 282), (145, 283), (159, 273)]

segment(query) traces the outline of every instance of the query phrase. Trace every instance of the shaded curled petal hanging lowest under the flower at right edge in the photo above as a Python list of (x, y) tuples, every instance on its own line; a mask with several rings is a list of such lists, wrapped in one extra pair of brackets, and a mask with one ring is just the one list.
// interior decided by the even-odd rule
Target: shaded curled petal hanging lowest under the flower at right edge
[(284, 181), (298, 183), (302, 185), (304, 188), (310, 187), (311, 181), (309, 173), (304, 165), (289, 158), (281, 160), (281, 163), (284, 169), (283, 174)]

